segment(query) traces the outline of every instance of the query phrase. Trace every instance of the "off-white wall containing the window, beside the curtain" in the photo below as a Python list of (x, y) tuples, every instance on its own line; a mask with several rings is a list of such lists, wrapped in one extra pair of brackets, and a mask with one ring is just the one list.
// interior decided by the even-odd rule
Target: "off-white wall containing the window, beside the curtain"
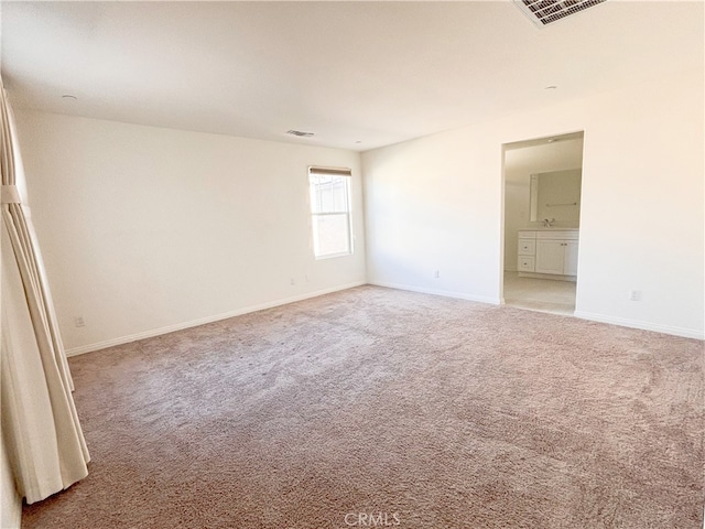
[[(366, 281), (356, 152), (29, 111), (17, 122), (69, 354)], [(354, 256), (314, 259), (308, 165), (352, 170)]]

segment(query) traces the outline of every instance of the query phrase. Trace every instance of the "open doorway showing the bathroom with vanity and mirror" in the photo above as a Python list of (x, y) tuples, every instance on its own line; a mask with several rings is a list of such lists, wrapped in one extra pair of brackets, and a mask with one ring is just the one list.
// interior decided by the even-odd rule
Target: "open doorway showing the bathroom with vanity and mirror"
[(572, 315), (584, 132), (506, 143), (503, 303)]

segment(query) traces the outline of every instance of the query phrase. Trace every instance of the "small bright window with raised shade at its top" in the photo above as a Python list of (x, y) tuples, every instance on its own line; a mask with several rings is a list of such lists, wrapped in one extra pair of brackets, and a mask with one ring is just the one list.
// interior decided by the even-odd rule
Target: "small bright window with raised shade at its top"
[(316, 258), (352, 253), (350, 170), (308, 168), (308, 187)]

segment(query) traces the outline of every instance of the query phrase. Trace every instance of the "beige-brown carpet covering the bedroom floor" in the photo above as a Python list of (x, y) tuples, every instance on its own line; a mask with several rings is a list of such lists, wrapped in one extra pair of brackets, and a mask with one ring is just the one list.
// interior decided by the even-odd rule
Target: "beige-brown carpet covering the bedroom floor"
[(25, 529), (703, 527), (699, 341), (362, 287), (70, 367)]

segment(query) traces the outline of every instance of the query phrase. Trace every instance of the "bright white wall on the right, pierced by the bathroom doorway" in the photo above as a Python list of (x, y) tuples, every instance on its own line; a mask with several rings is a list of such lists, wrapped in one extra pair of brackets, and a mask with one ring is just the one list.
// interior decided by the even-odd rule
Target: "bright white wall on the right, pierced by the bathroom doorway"
[(584, 130), (576, 315), (703, 337), (703, 90), (685, 72), (364, 153), (368, 280), (498, 302), (501, 145)]

